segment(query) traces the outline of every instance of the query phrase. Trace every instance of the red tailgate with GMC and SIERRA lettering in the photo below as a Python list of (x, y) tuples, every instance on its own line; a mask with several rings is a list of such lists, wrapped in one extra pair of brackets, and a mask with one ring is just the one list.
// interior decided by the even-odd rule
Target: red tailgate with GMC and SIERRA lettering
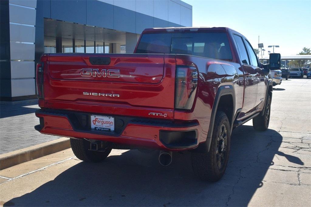
[(173, 119), (174, 77), (170, 55), (48, 54), (44, 107)]

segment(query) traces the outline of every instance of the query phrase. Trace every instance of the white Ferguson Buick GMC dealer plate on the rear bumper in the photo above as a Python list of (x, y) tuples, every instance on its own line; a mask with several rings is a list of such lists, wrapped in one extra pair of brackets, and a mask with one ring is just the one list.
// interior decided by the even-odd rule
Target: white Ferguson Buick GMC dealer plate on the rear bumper
[(114, 131), (114, 117), (91, 115), (91, 129)]

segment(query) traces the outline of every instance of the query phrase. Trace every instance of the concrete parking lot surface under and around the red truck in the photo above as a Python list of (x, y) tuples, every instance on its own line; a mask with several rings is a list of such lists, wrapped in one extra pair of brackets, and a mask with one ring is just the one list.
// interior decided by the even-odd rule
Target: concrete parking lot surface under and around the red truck
[(113, 150), (94, 164), (68, 149), (0, 171), (0, 204), (309, 206), (310, 104), (310, 79), (275, 86), (269, 129), (254, 131), (250, 121), (233, 131), (229, 164), (219, 182), (198, 180), (188, 152), (174, 153), (172, 164), (163, 167), (158, 152)]

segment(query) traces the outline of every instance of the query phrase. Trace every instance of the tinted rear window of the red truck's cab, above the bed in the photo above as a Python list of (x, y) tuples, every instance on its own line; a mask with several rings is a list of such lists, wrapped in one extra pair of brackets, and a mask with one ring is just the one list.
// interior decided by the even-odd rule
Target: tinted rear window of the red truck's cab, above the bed
[(136, 53), (187, 54), (232, 60), (226, 33), (143, 34)]

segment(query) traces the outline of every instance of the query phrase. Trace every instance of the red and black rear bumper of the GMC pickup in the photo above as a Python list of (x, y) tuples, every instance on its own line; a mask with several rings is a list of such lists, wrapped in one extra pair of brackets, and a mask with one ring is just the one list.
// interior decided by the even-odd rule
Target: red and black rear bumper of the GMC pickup
[(198, 146), (200, 126), (193, 122), (170, 122), (161, 119), (115, 117), (115, 131), (95, 131), (90, 127), (91, 113), (39, 109), (40, 124), (35, 129), (43, 134), (109, 141), (122, 145), (151, 147), (162, 150), (189, 150)]

